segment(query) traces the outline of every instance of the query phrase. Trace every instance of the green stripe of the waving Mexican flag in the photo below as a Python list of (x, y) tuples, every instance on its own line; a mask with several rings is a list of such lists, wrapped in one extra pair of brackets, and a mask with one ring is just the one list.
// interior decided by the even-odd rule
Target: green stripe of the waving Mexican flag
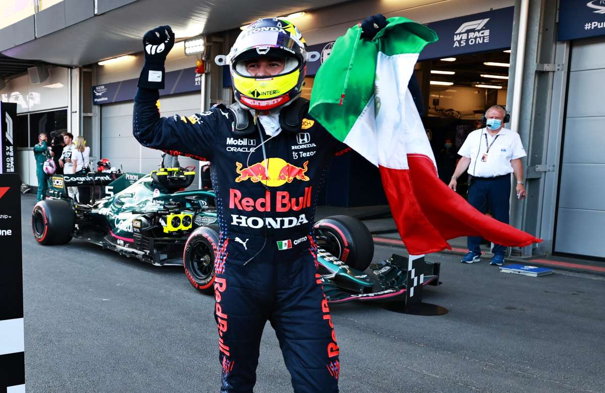
[(315, 76), (309, 113), (340, 141), (345, 140), (374, 94), (378, 52), (387, 56), (420, 53), (438, 39), (433, 30), (410, 19), (387, 21), (387, 27), (371, 41), (359, 40), (359, 25), (349, 28), (336, 40)]

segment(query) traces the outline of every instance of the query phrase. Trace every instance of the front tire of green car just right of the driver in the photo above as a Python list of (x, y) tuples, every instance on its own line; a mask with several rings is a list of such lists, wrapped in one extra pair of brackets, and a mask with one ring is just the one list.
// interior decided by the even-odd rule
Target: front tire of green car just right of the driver
[(374, 240), (363, 222), (351, 216), (329, 216), (315, 223), (315, 238), (327, 252), (364, 271), (374, 256)]

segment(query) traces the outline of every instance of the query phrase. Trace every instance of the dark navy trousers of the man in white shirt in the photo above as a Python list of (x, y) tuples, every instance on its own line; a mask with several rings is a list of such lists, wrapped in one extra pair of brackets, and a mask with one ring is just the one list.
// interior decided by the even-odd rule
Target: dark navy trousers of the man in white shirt
[[(511, 197), (511, 177), (510, 175), (495, 178), (483, 179), (473, 177), (473, 182), (468, 189), (468, 203), (482, 213), (488, 211), (498, 221), (508, 224), (509, 198)], [(480, 236), (468, 236), (468, 250), (478, 255), (481, 254), (479, 244), (482, 238)], [(505, 255), (506, 247), (495, 244), (492, 250), (494, 254)]]

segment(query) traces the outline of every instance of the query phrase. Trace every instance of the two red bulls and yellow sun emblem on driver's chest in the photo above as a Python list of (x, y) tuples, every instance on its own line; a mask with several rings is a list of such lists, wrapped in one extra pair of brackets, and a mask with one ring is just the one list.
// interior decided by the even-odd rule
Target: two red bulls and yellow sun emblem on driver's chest
[(250, 180), (253, 183), (259, 181), (269, 187), (278, 187), (293, 180), (309, 181), (305, 174), (309, 161), (305, 161), (302, 167), (292, 165), (282, 158), (267, 158), (260, 163), (249, 167), (243, 167), (241, 163), (235, 163), (235, 172), (239, 175), (235, 178), (237, 183)]

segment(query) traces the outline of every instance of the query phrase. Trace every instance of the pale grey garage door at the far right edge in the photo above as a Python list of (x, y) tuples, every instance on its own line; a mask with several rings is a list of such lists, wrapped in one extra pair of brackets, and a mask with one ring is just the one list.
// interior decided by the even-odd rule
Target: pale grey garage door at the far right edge
[(555, 252), (605, 258), (605, 38), (574, 42)]

